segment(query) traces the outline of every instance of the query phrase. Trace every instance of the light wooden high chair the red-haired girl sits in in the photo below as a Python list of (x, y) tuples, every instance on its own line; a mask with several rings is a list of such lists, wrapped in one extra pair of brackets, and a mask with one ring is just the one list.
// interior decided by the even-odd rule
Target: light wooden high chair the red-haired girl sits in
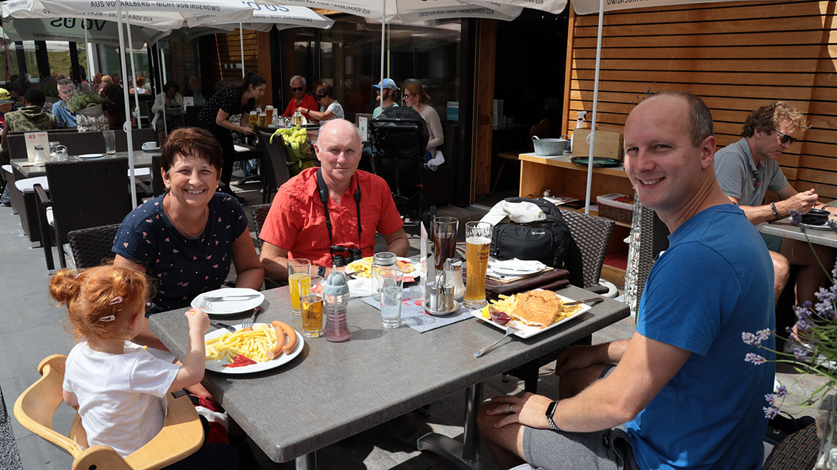
[(69, 452), (73, 456), (73, 470), (156, 470), (191, 455), (203, 445), (203, 426), (192, 401), (185, 394), (175, 398), (172, 392), (166, 394), (168, 416), (160, 433), (125, 458), (111, 447), (85, 448), (87, 435), (78, 413), (69, 428), (69, 436), (54, 431), (53, 415), (64, 401), (61, 393), (65, 360), (66, 355), (56, 354), (41, 361), (38, 371), (42, 376), (18, 396), (14, 416), (29, 431)]

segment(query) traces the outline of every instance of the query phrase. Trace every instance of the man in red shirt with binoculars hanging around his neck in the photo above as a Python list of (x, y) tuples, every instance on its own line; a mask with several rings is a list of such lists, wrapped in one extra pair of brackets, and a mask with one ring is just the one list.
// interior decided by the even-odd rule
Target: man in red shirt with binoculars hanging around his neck
[(320, 128), (314, 151), (322, 166), (302, 171), (279, 188), (259, 234), (267, 277), (288, 278), (289, 258), (310, 259), (321, 275), (330, 273), (332, 246), (360, 248), (364, 257), (372, 256), (376, 232), (386, 239), (388, 252), (407, 254), (407, 233), (387, 182), (357, 170), (362, 149), (349, 121), (329, 120)]

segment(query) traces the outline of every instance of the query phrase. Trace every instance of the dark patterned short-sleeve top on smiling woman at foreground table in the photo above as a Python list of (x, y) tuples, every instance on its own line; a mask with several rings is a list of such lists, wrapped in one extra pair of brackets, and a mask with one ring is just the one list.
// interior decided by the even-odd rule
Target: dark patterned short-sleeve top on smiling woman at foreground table
[(145, 266), (157, 280), (147, 306), (151, 313), (187, 307), (198, 294), (220, 288), (233, 261), (233, 243), (248, 230), (239, 202), (216, 192), (203, 233), (186, 238), (163, 212), (163, 197), (131, 211), (113, 243), (113, 253)]

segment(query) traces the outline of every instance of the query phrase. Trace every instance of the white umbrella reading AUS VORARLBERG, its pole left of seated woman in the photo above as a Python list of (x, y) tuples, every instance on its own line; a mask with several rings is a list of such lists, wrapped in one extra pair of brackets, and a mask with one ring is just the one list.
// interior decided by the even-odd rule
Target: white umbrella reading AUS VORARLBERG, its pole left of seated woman
[[(39, 2), (42, 11), (33, 12), (36, 8), (35, 2)], [(202, 22), (209, 21), (215, 16), (223, 16), (234, 21), (244, 21), (252, 17), (253, 8), (244, 3), (236, 3), (230, 0), (178, 0), (177, 2), (170, 2), (168, 0), (144, 0), (143, 2), (125, 2), (120, 0), (116, 2), (116, 12), (110, 8), (97, 8), (90, 0), (12, 0), (8, 3), (15, 3), (18, 5), (16, 13), (20, 14), (23, 9), (20, 5), (28, 6), (28, 10), (33, 13), (42, 13), (53, 17), (71, 16), (91, 19), (105, 19), (116, 17), (118, 24), (118, 36), (120, 49), (125, 50), (125, 38), (122, 31), (123, 19), (130, 18), (131, 22), (140, 23), (145, 18), (151, 18), (159, 15), (160, 18), (168, 18), (171, 16), (175, 18), (179, 15), (179, 20), (173, 22), (171, 28), (182, 26), (185, 21), (190, 26), (200, 25)], [(126, 3), (126, 8), (123, 11), (122, 3)], [(5, 8), (5, 5), (4, 5)], [(12, 9), (12, 7), (9, 7)], [(10, 12), (13, 16), (15, 13)], [(122, 76), (126, 77), (126, 62), (125, 54), (120, 54)], [(128, 89), (123, 87), (123, 95), (126, 104), (128, 100)], [(131, 171), (131, 204), (136, 207), (136, 184), (134, 175), (134, 151), (133, 138), (131, 132), (131, 109), (126, 106), (125, 110), (125, 125), (123, 130), (126, 133), (128, 143), (128, 167)]]

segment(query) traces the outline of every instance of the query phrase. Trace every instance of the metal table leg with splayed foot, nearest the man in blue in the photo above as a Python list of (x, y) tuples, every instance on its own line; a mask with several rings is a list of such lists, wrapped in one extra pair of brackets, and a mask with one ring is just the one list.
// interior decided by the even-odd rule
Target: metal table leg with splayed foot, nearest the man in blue
[(465, 389), (465, 432), (463, 443), (436, 432), (428, 432), (416, 441), (420, 451), (434, 452), (463, 470), (498, 470), (490, 461), (480, 460), (480, 436), (476, 426), (477, 411), (480, 410), (482, 384)]

